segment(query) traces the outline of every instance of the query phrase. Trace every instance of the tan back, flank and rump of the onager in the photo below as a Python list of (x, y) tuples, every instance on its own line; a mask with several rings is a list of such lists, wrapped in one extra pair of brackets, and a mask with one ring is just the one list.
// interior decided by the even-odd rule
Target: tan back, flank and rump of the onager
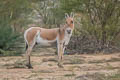
[(56, 40), (58, 35), (58, 28), (45, 29), (40, 27), (31, 27), (25, 31), (24, 38), (27, 43), (31, 44), (39, 31), (39, 37), (43, 40), (53, 41)]

